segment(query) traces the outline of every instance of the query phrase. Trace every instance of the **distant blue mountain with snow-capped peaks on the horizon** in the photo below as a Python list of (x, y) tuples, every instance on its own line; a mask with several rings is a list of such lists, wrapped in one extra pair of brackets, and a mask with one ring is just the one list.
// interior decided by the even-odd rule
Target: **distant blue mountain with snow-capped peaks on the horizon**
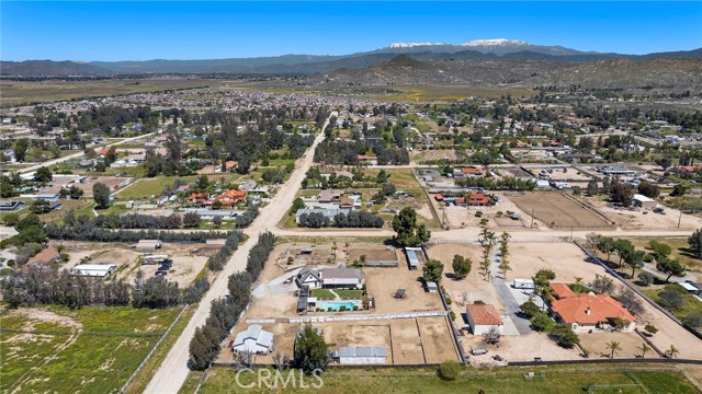
[(498, 56), (513, 54), (519, 51), (532, 51), (536, 54), (564, 56), (564, 55), (580, 55), (579, 50), (564, 48), (562, 46), (544, 46), (534, 45), (518, 39), (475, 39), (465, 42), (462, 44), (445, 44), (445, 43), (394, 43), (384, 48), (374, 50), (373, 53), (381, 54), (408, 54), (408, 53), (438, 53), (438, 54), (454, 54), (463, 50), (475, 50), (482, 54), (495, 54)]

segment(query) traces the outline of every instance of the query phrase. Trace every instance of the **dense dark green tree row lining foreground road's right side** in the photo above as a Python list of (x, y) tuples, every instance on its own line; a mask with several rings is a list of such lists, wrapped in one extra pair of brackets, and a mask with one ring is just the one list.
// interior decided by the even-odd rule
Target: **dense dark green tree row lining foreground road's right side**
[(251, 283), (263, 269), (275, 244), (275, 236), (265, 232), (259, 235), (258, 243), (251, 248), (247, 269), (229, 276), (229, 294), (212, 302), (210, 317), (202, 327), (195, 329), (190, 341), (189, 367), (205, 370), (217, 357), (222, 341), (227, 337), (250, 301)]

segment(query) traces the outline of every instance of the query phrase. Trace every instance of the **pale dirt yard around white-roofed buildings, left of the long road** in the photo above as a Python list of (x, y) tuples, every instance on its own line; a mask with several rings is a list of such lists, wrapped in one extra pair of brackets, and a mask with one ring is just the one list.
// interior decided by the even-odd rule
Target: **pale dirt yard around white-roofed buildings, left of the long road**
[[(131, 250), (128, 244), (75, 241), (54, 244), (66, 246), (66, 252), (70, 258), (65, 265), (65, 268), (70, 269), (81, 263), (116, 264), (117, 269), (114, 278), (125, 279), (129, 283), (134, 283), (136, 273), (139, 269), (144, 271), (144, 278), (148, 279), (152, 277), (158, 267), (160, 267), (160, 265), (137, 266), (137, 259), (143, 254)], [(173, 259), (173, 267), (166, 278), (177, 281), (181, 288), (188, 287), (195, 280), (197, 274), (200, 274), (205, 266), (205, 262), (207, 260), (206, 253), (204, 253), (205, 251), (204, 244), (163, 244), (163, 247), (159, 250), (158, 254), (170, 255)], [(83, 259), (87, 260), (82, 262)]]

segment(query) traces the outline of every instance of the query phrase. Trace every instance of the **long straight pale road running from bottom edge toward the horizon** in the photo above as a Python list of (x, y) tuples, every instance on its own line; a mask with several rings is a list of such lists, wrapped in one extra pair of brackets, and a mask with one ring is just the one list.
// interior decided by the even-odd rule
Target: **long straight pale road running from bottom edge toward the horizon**
[[(337, 114), (332, 113), (332, 116), (337, 116)], [(327, 127), (329, 119), (325, 123), (325, 126), (321, 128), (322, 130)], [(287, 215), (290, 206), (293, 204), (297, 192), (302, 187), (305, 174), (313, 164), (315, 148), (324, 138), (324, 132), (317, 136), (312, 148), (309, 148), (302, 160), (297, 162), (296, 169), (290, 179), (279, 189), (279, 193), (271, 199), (269, 205), (261, 210), (261, 213), (253, 223), (251, 223), (249, 229), (245, 231), (245, 233), (250, 236), (249, 240), (239, 246), (224, 269), (217, 275), (217, 278), (200, 302), (188, 326), (183, 329), (183, 333), (168, 352), (168, 356), (166, 356), (166, 360), (163, 360), (161, 367), (156, 371), (154, 378), (151, 378), (145, 393), (178, 393), (183, 385), (189, 372), (188, 358), (190, 340), (195, 334), (195, 328), (205, 324), (207, 316), (210, 316), (212, 301), (227, 293), (229, 276), (246, 268), (249, 251), (256, 245), (258, 234), (265, 230), (275, 230), (283, 216)]]

